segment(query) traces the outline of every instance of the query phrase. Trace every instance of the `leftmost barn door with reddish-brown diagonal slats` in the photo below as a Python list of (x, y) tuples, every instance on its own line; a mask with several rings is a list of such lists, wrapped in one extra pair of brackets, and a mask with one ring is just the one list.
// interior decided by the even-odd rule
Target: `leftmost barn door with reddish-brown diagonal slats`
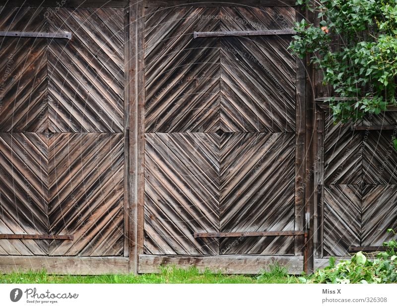
[(123, 256), (123, 8), (0, 11), (0, 255)]

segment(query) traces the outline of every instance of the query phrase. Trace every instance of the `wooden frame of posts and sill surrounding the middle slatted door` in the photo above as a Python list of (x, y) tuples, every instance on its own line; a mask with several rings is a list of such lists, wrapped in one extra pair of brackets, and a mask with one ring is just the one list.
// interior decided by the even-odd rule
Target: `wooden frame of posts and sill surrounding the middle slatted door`
[[(201, 3), (202, 2), (202, 3)], [(237, 1), (236, 1), (237, 2)], [(245, 0), (242, 4), (234, 6), (291, 6), (295, 7), (295, 0)], [(208, 4), (204, 0), (145, 0), (135, 3), (130, 1), (130, 60), (127, 70), (129, 77), (129, 214), (130, 214), (130, 254), (129, 264), (131, 273), (153, 273), (159, 272), (161, 265), (177, 265), (188, 267), (195, 265), (200, 270), (209, 268), (212, 270), (222, 270), (225, 273), (258, 273), (268, 268), (270, 264), (278, 262), (280, 265), (288, 266), (289, 272), (299, 274), (303, 270), (310, 272), (313, 270), (313, 242), (310, 236), (305, 245), (305, 240), (301, 236), (295, 237), (295, 256), (281, 255), (215, 255), (215, 256), (188, 256), (188, 255), (145, 255), (143, 254), (143, 228), (144, 228), (144, 8), (150, 6), (222, 6), (220, 3)], [(227, 5), (223, 5), (227, 6)], [(296, 9), (297, 19), (306, 15), (300, 8)], [(299, 17), (301, 16), (301, 17)], [(305, 230), (309, 226), (306, 218), (310, 216), (311, 203), (310, 179), (305, 183), (305, 175), (308, 170), (305, 167), (308, 160), (306, 139), (308, 138), (308, 123), (311, 122), (312, 113), (307, 111), (306, 101), (310, 98), (307, 93), (307, 67), (305, 63), (297, 57), (296, 60), (296, 137), (295, 137), (295, 229), (296, 231)], [(310, 144), (312, 145), (312, 144)], [(310, 161), (309, 161), (310, 162)], [(299, 192), (299, 193), (298, 193)], [(309, 192), (309, 194), (308, 194)], [(309, 216), (308, 216), (309, 213)], [(312, 222), (312, 219), (311, 219)], [(304, 252), (303, 247), (305, 246)], [(309, 248), (309, 249), (308, 249)], [(300, 253), (301, 252), (301, 253)]]

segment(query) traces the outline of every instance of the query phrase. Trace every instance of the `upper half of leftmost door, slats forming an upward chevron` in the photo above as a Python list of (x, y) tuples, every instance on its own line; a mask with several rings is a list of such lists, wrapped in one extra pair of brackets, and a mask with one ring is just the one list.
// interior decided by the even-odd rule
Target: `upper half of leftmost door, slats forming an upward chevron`
[(0, 131), (123, 132), (122, 9), (7, 7), (1, 14), (3, 31), (68, 31), (72, 39), (2, 40)]

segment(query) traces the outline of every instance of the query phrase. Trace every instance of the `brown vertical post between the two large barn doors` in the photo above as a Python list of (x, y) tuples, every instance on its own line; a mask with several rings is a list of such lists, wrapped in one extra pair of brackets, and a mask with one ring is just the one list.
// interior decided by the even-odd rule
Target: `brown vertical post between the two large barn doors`
[(130, 0), (129, 5), (129, 155), (130, 155), (130, 253), (129, 270), (138, 273), (138, 257), (143, 252), (144, 202), (144, 5)]

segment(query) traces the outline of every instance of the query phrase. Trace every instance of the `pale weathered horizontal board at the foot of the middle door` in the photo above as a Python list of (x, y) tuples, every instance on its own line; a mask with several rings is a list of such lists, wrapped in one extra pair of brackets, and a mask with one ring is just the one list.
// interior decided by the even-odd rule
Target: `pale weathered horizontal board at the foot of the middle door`
[(139, 255), (139, 273), (159, 273), (160, 266), (189, 268), (196, 266), (200, 271), (209, 269), (224, 274), (258, 274), (270, 270), (278, 263), (286, 268), (289, 274), (303, 272), (303, 257), (300, 256), (262, 256), (262, 255)]

